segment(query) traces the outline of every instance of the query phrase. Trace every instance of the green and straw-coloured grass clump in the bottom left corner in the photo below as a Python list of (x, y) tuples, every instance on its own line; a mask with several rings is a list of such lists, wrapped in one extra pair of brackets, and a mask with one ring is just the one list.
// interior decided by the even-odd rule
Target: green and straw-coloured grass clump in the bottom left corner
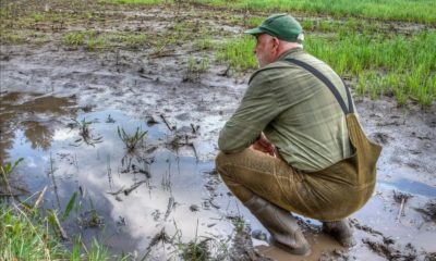
[[(8, 176), (22, 162), (20, 158), (13, 164), (0, 166), (2, 177), (8, 183)], [(86, 247), (80, 237), (74, 236), (72, 251), (69, 251), (59, 240), (57, 232), (63, 232), (58, 220), (57, 210), (47, 210), (47, 214), (39, 209), (44, 189), (34, 203), (31, 198), (17, 203), (2, 201), (0, 198), (0, 260), (109, 260), (108, 250), (96, 239), (90, 248)], [(62, 221), (66, 220), (76, 194), (68, 203)], [(64, 232), (63, 232), (64, 233)], [(65, 238), (65, 236), (62, 236)]]

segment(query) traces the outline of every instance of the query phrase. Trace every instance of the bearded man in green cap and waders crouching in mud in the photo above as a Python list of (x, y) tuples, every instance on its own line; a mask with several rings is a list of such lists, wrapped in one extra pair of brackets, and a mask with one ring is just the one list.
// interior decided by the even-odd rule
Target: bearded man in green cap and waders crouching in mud
[(325, 232), (351, 247), (347, 216), (374, 190), (380, 147), (360, 128), (341, 78), (303, 50), (302, 27), (292, 16), (271, 15), (245, 33), (257, 39), (261, 69), (220, 133), (217, 170), (272, 245), (310, 253), (295, 212), (320, 220)]

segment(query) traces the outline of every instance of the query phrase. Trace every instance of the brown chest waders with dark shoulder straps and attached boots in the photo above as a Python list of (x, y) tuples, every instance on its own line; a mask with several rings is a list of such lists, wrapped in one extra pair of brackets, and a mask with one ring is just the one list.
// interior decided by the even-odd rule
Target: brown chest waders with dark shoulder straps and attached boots
[(371, 142), (363, 133), (347, 87), (349, 108), (323, 74), (299, 60), (288, 61), (310, 71), (331, 90), (346, 113), (354, 153), (324, 170), (303, 172), (278, 158), (245, 149), (234, 154), (219, 152), (217, 170), (233, 195), (269, 231), (277, 246), (295, 254), (310, 251), (289, 211), (323, 221), (325, 232), (342, 246), (353, 246), (347, 216), (362, 208), (373, 194), (382, 147)]

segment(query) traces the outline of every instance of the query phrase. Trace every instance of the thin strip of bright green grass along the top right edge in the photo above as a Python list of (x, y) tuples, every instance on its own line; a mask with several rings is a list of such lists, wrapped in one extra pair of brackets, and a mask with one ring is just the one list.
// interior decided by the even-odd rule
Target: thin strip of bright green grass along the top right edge
[(433, 0), (194, 0), (194, 2), (250, 9), (263, 12), (310, 12), (335, 17), (359, 16), (432, 24), (436, 22), (436, 2)]

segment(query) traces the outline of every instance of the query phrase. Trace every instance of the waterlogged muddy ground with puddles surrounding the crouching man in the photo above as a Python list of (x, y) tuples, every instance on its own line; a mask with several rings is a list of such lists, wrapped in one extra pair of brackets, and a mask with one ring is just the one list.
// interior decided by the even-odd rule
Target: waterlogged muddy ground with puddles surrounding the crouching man
[[(153, 36), (180, 20), (222, 35), (242, 30), (225, 14), (192, 7), (104, 11), (113, 15), (94, 25), (99, 29)], [(11, 177), (14, 192), (25, 199), (47, 187), (43, 207), (59, 216), (75, 194), (63, 223), (70, 238), (96, 236), (113, 253), (150, 260), (180, 259), (183, 244), (206, 238), (210, 258), (228, 260), (436, 259), (435, 105), (423, 111), (413, 103), (398, 108), (390, 98), (358, 98), (366, 133), (384, 146), (376, 192), (351, 216), (358, 246), (341, 248), (317, 221), (302, 217), (312, 254), (292, 257), (263, 240), (265, 228), (215, 172), (219, 129), (250, 75), (227, 72), (211, 51), (196, 50), (196, 33), (159, 52), (154, 46), (86, 51), (63, 46), (50, 32), (46, 44), (2, 45), (0, 160), (24, 158)], [(207, 71), (187, 70), (190, 55), (209, 57)], [(118, 128), (147, 135), (129, 152)]]

